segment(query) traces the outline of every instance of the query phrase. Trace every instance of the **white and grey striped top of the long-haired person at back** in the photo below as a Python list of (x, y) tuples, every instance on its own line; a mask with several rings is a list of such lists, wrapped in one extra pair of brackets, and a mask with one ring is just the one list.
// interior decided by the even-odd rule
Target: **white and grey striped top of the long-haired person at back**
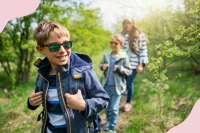
[(144, 33), (140, 33), (139, 36), (139, 50), (137, 52), (132, 52), (129, 49), (129, 34), (122, 33), (125, 37), (124, 47), (123, 49), (128, 53), (129, 61), (132, 69), (137, 69), (139, 64), (147, 64), (149, 63), (148, 55), (147, 55), (147, 42), (146, 36)]

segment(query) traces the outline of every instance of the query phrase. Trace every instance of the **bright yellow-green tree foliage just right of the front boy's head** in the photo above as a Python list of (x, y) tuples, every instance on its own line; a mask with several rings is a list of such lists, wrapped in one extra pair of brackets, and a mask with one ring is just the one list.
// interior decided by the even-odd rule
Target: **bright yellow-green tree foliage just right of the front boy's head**
[(104, 30), (101, 19), (96, 15), (98, 11), (98, 9), (84, 10), (81, 5), (76, 13), (84, 17), (68, 24), (67, 27), (72, 34), (71, 38), (75, 42), (74, 51), (92, 56), (108, 47), (111, 33)]

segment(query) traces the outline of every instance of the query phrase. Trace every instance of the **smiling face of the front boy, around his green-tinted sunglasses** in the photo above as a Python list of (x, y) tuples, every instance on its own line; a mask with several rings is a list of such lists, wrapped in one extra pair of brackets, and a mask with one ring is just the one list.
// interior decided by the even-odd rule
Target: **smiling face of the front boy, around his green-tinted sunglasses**
[[(49, 39), (44, 43), (44, 45), (49, 45), (52, 43), (62, 44), (65, 41), (69, 41), (68, 37), (58, 37), (54, 32), (51, 32), (49, 35)], [(66, 65), (70, 55), (71, 55), (71, 48), (65, 49), (62, 45), (57, 52), (51, 52), (49, 47), (40, 47), (37, 46), (36, 49), (43, 55), (45, 55), (49, 62), (51, 63), (52, 69), (55, 70), (58, 66)]]

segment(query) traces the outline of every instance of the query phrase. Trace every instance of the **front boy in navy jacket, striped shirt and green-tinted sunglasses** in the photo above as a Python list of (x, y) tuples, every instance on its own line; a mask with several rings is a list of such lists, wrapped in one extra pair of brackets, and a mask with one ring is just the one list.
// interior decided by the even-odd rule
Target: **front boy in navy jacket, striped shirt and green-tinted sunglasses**
[(98, 112), (108, 106), (109, 97), (92, 70), (87, 55), (73, 53), (66, 28), (45, 20), (34, 31), (36, 49), (46, 57), (37, 60), (35, 92), (28, 108), (44, 107), (42, 133), (95, 133), (99, 130)]

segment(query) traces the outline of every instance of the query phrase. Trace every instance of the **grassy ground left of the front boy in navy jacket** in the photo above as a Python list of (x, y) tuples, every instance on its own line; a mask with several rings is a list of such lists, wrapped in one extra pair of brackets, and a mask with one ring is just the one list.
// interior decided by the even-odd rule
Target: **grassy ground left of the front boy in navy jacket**
[[(3, 81), (0, 89), (1, 133), (30, 133), (38, 127), (36, 117), (41, 109), (33, 112), (27, 108), (27, 98), (34, 90), (35, 76), (33, 71), (30, 82), (15, 86), (13, 89), (7, 87), (9, 83), (3, 80), (5, 77), (0, 77)], [(39, 133), (39, 130), (34, 133)]]

